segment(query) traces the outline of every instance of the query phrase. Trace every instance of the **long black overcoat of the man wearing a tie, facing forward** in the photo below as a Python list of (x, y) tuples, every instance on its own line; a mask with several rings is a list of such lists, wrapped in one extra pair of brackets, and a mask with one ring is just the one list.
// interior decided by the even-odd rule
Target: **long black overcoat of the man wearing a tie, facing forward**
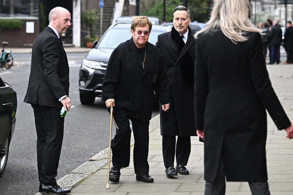
[[(175, 108), (174, 112), (172, 110), (162, 112), (160, 109), (161, 135), (163, 136), (196, 136), (193, 109), (193, 72), (196, 42), (194, 39), (195, 32), (190, 28), (189, 32), (186, 44), (181, 53), (176, 42), (171, 37), (171, 32), (158, 35), (156, 46), (164, 57), (170, 93), (174, 100), (170, 106), (174, 106)], [(188, 65), (187, 63), (183, 64), (181, 60), (186, 53), (189, 53), (191, 57), (191, 62)], [(190, 83), (190, 85), (186, 84), (186, 82)]]

